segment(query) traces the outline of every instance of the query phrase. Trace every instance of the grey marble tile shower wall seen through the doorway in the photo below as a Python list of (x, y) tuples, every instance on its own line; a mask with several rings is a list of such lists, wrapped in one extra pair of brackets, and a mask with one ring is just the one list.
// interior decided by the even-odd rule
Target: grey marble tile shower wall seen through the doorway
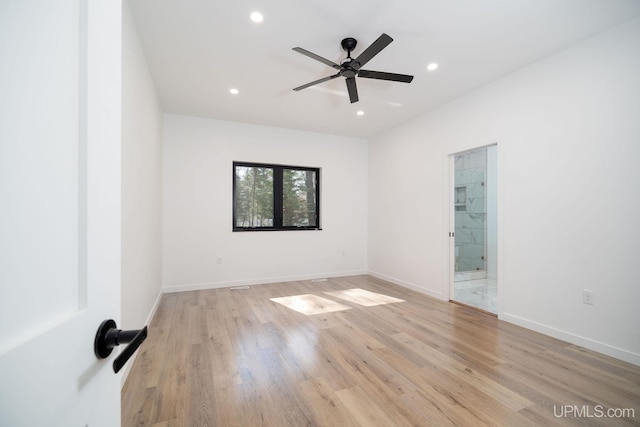
[(456, 156), (455, 271), (457, 272), (486, 270), (486, 177), (486, 149)]

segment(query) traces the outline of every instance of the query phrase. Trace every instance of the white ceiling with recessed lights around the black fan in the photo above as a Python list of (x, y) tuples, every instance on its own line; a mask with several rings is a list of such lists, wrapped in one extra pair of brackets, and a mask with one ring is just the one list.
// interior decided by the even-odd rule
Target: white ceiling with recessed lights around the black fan
[[(129, 3), (165, 112), (363, 138), (640, 14), (640, 0)], [(343, 77), (292, 90), (336, 73), (293, 47), (340, 63), (343, 38), (355, 58), (383, 32), (394, 41), (363, 68), (412, 83), (356, 78), (354, 104)]]

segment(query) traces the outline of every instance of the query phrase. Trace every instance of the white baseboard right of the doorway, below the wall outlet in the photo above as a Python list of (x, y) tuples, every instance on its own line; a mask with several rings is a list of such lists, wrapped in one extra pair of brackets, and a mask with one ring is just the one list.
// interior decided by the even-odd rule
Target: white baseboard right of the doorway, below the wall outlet
[(585, 338), (583, 336), (563, 331), (561, 329), (556, 329), (551, 326), (543, 325), (541, 323), (515, 316), (513, 314), (501, 313), (500, 319), (518, 326), (522, 326), (523, 328), (531, 329), (533, 331), (540, 332), (541, 334), (548, 335), (550, 337), (557, 338), (571, 344), (579, 345), (589, 350), (597, 351), (598, 353), (606, 354), (607, 356), (611, 356), (616, 359), (620, 359), (625, 362), (640, 366), (640, 354), (617, 348), (599, 341), (595, 341), (590, 338)]

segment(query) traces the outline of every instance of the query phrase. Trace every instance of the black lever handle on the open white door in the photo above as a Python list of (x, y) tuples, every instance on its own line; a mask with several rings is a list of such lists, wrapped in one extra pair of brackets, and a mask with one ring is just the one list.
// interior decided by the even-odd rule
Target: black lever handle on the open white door
[(114, 347), (120, 344), (129, 344), (113, 361), (113, 372), (118, 373), (146, 338), (146, 326), (138, 330), (123, 331), (122, 329), (117, 329), (116, 322), (113, 319), (109, 319), (102, 322), (98, 327), (96, 339), (93, 343), (93, 351), (98, 359), (106, 359)]

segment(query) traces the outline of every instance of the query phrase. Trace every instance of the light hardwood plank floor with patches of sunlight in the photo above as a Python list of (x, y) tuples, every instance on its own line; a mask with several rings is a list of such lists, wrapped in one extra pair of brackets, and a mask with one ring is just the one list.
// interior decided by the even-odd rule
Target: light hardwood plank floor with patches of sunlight
[(139, 352), (125, 427), (640, 425), (640, 367), (369, 276), (165, 294)]

